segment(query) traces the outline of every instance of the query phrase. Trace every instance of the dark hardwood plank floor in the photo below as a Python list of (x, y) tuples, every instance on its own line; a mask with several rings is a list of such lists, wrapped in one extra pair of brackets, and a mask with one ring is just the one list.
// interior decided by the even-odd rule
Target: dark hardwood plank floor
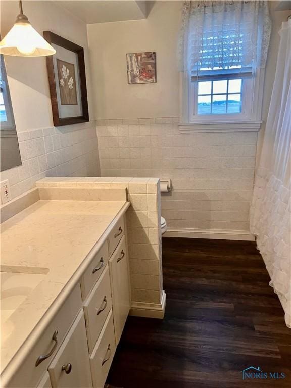
[[(128, 318), (110, 384), (291, 387), (291, 329), (254, 242), (163, 238), (163, 273), (165, 318)], [(250, 366), (286, 377), (243, 381)]]

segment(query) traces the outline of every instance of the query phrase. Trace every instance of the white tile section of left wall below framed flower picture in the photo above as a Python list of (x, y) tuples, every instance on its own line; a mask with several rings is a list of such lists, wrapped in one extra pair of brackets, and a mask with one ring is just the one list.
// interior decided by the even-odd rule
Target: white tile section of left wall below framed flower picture
[(22, 165), (1, 172), (12, 198), (44, 176), (99, 176), (95, 122), (18, 132)]

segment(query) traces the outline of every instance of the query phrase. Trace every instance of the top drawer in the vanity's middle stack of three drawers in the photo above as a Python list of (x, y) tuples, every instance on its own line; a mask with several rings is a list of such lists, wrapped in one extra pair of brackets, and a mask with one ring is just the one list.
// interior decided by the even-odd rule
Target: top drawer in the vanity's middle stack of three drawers
[(80, 282), (83, 301), (89, 295), (93, 285), (100, 278), (104, 268), (106, 267), (106, 264), (108, 263), (108, 259), (108, 243), (106, 240), (81, 277)]

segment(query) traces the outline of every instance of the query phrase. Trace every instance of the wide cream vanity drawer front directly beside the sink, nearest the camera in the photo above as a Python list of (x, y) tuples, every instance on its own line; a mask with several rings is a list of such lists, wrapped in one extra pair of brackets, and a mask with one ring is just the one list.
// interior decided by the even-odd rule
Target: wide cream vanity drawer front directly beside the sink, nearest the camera
[[(43, 330), (34, 348), (18, 369), (17, 373), (15, 373), (13, 378), (6, 385), (7, 388), (32, 388), (37, 386), (37, 383), (46, 371), (47, 366), (53, 360), (81, 306), (82, 299), (80, 283), (77, 283), (69, 297), (60, 307), (55, 317)], [(55, 331), (58, 331), (56, 336), (57, 342), (53, 340)], [(38, 366), (35, 366), (38, 357), (49, 354), (52, 349), (54, 349), (54, 351), (51, 356), (44, 359)]]

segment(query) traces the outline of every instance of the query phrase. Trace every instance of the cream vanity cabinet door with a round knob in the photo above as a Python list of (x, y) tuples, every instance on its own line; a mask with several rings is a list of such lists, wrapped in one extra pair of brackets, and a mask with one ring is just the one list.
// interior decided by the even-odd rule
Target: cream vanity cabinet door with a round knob
[(92, 386), (84, 313), (81, 310), (49, 366), (53, 388)]

